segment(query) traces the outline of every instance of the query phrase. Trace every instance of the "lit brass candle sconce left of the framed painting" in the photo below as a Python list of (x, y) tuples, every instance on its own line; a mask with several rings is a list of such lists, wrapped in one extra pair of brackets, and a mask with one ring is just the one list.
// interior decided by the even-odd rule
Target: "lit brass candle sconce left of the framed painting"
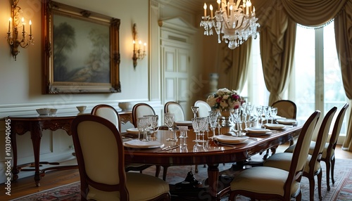
[[(25, 31), (25, 19), (21, 19), (20, 24), (20, 13), (22, 12), (21, 8), (17, 6), (20, 0), (13, 0), (11, 5), (11, 18), (8, 20), (8, 32), (7, 32), (7, 42), (11, 46), (11, 54), (13, 58), (16, 60), (16, 56), (20, 51), (18, 51), (18, 46), (22, 48), (27, 48), (30, 44), (34, 44), (34, 40), (32, 37), (32, 21), (30, 20), (30, 39), (27, 38), (27, 32)], [(11, 29), (12, 25), (12, 29)], [(19, 35), (20, 27), (22, 26), (22, 34)], [(12, 32), (11, 32), (12, 31)], [(21, 37), (22, 38), (19, 38)]]

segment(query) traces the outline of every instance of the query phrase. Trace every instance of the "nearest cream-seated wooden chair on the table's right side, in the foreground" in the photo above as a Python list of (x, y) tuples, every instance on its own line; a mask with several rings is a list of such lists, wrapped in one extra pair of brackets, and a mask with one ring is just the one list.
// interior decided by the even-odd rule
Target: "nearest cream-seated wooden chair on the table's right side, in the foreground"
[(319, 116), (320, 111), (316, 110), (303, 125), (289, 171), (265, 166), (244, 169), (230, 183), (230, 200), (237, 195), (251, 197), (251, 200), (301, 200), (301, 177)]

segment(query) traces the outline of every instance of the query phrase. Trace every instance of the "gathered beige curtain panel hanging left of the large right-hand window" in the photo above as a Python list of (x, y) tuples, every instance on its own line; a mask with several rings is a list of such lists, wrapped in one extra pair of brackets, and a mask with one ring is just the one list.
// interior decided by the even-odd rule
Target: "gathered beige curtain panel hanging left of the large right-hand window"
[(282, 99), (282, 93), (289, 84), (296, 40), (296, 23), (283, 9), (275, 10), (282, 8), (279, 5), (277, 1), (277, 7), (271, 7), (274, 10), (266, 9), (271, 15), (260, 30), (260, 56), (265, 84), (270, 91), (269, 105)]

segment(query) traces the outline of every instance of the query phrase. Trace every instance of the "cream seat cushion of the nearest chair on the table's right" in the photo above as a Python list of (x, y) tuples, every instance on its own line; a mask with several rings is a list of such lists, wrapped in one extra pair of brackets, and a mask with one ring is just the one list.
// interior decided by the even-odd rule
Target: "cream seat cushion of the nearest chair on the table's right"
[[(247, 190), (253, 193), (266, 193), (284, 196), (284, 183), (289, 172), (274, 167), (252, 167), (241, 171), (232, 180), (231, 190)], [(294, 181), (291, 195), (300, 190), (300, 183)]]

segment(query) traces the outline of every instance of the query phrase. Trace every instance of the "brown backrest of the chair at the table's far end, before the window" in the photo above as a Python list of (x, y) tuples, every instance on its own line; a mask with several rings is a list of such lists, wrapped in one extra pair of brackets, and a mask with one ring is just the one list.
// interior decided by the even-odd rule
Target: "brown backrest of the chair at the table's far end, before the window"
[(277, 115), (280, 117), (286, 117), (288, 119), (296, 119), (297, 106), (291, 100), (277, 100), (271, 105), (273, 108), (277, 108)]

